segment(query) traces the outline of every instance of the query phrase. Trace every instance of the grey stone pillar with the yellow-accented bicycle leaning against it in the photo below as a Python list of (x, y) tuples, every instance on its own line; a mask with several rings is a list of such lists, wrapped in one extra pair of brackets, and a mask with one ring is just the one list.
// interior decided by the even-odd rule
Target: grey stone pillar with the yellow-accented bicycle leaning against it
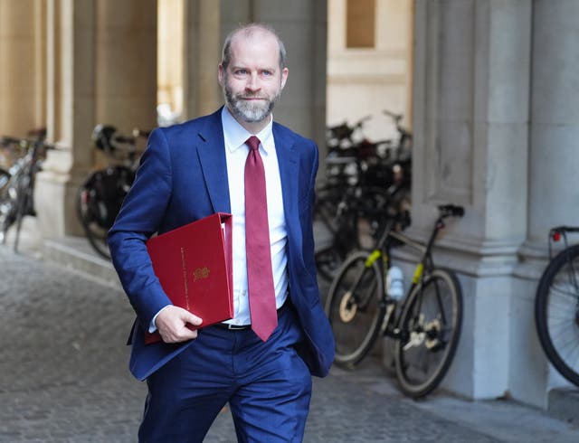
[(415, 1), (413, 225), (465, 207), (437, 242), (458, 272), (459, 350), (443, 384), (470, 398), (509, 388), (512, 271), (527, 231), (531, 0)]

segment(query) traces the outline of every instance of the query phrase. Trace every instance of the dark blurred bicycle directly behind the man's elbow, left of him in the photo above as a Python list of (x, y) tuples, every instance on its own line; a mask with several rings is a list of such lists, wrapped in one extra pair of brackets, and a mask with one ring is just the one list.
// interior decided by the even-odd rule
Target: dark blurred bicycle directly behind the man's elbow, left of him
[(148, 134), (134, 129), (132, 137), (126, 137), (110, 125), (97, 125), (92, 131), (94, 146), (120, 162), (92, 172), (81, 184), (77, 197), (77, 216), (82, 229), (92, 249), (103, 259), (110, 259), (107, 231), (135, 180), (140, 158), (138, 137), (145, 138)]

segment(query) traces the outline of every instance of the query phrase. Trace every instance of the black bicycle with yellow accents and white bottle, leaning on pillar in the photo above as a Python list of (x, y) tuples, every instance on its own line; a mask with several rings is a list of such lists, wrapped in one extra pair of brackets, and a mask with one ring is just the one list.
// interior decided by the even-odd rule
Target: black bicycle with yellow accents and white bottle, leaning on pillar
[[(423, 397), (448, 371), (460, 339), (462, 292), (454, 272), (434, 265), (432, 246), (445, 219), (462, 217), (452, 204), (438, 207), (439, 216), (425, 244), (401, 232), (390, 218), (375, 250), (360, 250), (337, 272), (326, 300), (326, 314), (336, 338), (336, 362), (353, 368), (381, 333), (394, 340), (396, 378), (402, 391)], [(421, 252), (412, 284), (404, 296), (394, 278), (391, 251), (406, 245)], [(392, 283), (388, 286), (385, 283)], [(394, 291), (394, 287), (396, 291)]]

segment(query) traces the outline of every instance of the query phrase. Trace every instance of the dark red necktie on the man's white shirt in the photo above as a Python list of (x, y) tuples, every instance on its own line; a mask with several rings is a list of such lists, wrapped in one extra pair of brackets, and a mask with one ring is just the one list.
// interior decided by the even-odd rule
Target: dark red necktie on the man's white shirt
[(245, 142), (250, 152), (245, 161), (245, 254), (252, 329), (264, 342), (278, 325), (271, 271), (270, 227), (265, 192), (265, 171), (260, 139)]

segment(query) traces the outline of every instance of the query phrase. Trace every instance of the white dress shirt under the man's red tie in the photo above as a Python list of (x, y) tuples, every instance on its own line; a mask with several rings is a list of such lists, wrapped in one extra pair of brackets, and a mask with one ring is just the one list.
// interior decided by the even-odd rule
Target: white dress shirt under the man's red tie
[[(247, 262), (245, 257), (245, 160), (249, 146), (245, 141), (252, 137), (231, 115), (227, 107), (222, 111), (223, 137), (225, 139), (225, 159), (227, 161), (227, 178), (229, 199), (233, 215), (233, 325), (252, 323), (247, 287)], [(255, 134), (261, 141), (260, 155), (265, 169), (265, 185), (268, 201), (268, 223), (270, 228), (271, 269), (275, 288), (276, 306), (280, 308), (288, 296), (288, 275), (286, 243), (288, 233), (283, 213), (283, 195), (281, 193), (280, 167), (271, 127), (273, 118), (267, 127)], [(250, 241), (252, 239), (249, 239)]]

